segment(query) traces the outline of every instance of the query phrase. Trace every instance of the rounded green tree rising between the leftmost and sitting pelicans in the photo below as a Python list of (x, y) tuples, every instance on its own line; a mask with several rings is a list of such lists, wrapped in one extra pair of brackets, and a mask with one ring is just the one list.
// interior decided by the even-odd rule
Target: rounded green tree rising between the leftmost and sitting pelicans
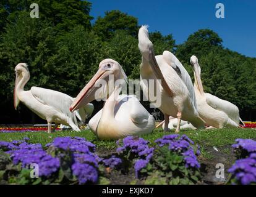
[(62, 36), (56, 48), (46, 65), (54, 73), (49, 88), (75, 97), (98, 70), (102, 43), (95, 33), (77, 26)]

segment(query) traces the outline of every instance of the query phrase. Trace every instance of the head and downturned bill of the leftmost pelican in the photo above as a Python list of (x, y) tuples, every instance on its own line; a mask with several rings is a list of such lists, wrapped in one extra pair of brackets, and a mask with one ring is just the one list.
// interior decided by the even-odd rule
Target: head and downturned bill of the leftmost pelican
[[(28, 71), (27, 63), (17, 64), (17, 66), (15, 66), (14, 71), (15, 71), (15, 75), (16, 75), (15, 86), (14, 86), (14, 108), (15, 108), (15, 110), (17, 110), (17, 107), (20, 103), (20, 100), (17, 96), (17, 89), (18, 88), (23, 89), (23, 87), (25, 86), (25, 84), (27, 83), (27, 81), (30, 78), (30, 74), (29, 74), (29, 71)], [(22, 81), (22, 79), (25, 79), (25, 81), (24, 80)], [(18, 84), (19, 84), (19, 86), (18, 86)]]

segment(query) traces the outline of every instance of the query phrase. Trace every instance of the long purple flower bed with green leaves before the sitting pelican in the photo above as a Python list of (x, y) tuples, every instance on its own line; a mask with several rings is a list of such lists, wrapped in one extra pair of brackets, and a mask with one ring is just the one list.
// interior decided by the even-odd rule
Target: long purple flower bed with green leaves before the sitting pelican
[[(29, 139), (0, 142), (6, 183), (94, 184), (109, 183), (109, 173), (134, 173), (134, 179), (151, 184), (189, 184), (200, 181), (199, 148), (186, 135), (166, 135), (150, 146), (147, 140), (126, 137), (116, 152), (100, 156), (93, 143), (80, 137), (56, 137), (45, 147)], [(39, 167), (39, 178), (30, 178), (30, 164)], [(11, 173), (10, 173), (11, 172)], [(1, 182), (1, 180), (0, 180)]]

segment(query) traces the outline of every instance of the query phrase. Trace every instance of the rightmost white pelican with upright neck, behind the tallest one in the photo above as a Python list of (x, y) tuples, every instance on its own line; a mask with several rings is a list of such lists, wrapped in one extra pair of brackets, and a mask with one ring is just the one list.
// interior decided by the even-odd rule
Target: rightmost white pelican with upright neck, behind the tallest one
[(194, 89), (200, 117), (202, 117), (207, 126), (210, 127), (239, 127), (239, 109), (236, 105), (227, 100), (203, 92), (203, 84), (200, 76), (201, 68), (195, 55), (190, 57), (190, 63), (194, 67)]

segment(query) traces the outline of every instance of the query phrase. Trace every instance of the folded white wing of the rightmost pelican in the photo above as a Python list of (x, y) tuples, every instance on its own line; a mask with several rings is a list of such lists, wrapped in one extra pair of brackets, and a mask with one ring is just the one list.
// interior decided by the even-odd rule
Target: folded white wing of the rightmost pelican
[(209, 93), (205, 93), (205, 97), (210, 107), (215, 108), (215, 110), (223, 111), (230, 119), (239, 124), (239, 109), (236, 105)]

